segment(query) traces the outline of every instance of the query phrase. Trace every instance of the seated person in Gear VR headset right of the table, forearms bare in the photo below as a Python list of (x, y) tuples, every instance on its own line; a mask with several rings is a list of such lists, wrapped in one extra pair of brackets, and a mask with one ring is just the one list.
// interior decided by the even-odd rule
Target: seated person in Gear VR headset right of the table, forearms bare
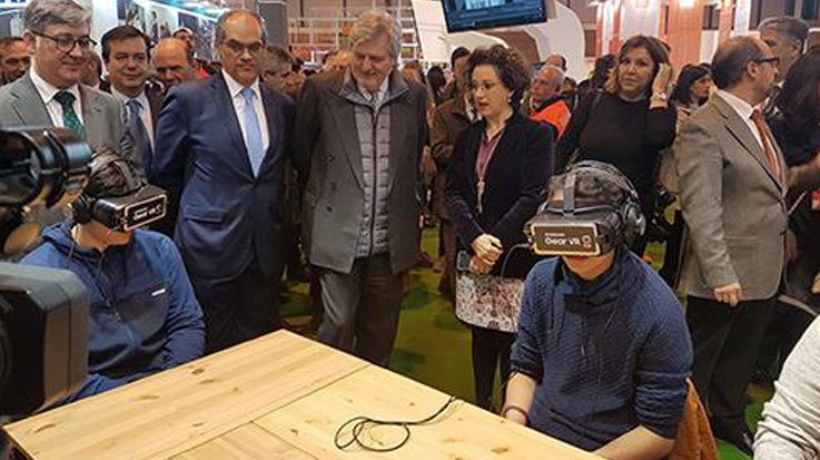
[(527, 224), (559, 255), (527, 276), (502, 415), (607, 459), (661, 459), (688, 397), (692, 344), (680, 303), (630, 252), (645, 229), (614, 166), (556, 176)]

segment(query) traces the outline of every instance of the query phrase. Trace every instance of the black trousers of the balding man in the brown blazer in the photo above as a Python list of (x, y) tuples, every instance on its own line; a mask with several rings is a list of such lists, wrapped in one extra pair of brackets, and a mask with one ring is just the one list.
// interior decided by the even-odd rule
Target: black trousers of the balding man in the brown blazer
[(743, 423), (745, 390), (773, 303), (745, 301), (731, 307), (713, 298), (688, 297), (692, 380), (712, 417), (724, 425)]

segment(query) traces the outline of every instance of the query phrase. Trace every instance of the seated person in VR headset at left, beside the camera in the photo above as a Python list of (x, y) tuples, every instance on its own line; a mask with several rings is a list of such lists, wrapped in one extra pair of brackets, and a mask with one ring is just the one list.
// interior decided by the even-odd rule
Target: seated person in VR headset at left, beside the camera
[(86, 383), (65, 402), (202, 355), (205, 324), (174, 242), (142, 229), (165, 215), (165, 190), (115, 151), (95, 153), (73, 219), (47, 227), (21, 263), (73, 272), (91, 303)]

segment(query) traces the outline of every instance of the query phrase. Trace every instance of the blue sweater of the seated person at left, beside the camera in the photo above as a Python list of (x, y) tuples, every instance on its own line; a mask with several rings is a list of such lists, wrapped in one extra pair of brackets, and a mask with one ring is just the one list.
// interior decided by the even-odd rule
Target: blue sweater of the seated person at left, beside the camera
[(63, 402), (110, 390), (202, 355), (205, 324), (177, 247), (137, 229), (126, 246), (105, 253), (79, 247), (72, 223), (43, 231), (43, 243), (21, 263), (73, 272), (90, 305), (88, 372)]

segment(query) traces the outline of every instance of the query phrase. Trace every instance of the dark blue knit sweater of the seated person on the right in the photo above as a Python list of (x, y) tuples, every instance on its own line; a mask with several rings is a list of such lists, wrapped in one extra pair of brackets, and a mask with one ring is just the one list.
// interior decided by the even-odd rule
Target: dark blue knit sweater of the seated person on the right
[(675, 437), (692, 344), (674, 294), (619, 251), (592, 283), (559, 258), (535, 265), (511, 360), (514, 372), (537, 382), (530, 425), (594, 450), (638, 425)]

